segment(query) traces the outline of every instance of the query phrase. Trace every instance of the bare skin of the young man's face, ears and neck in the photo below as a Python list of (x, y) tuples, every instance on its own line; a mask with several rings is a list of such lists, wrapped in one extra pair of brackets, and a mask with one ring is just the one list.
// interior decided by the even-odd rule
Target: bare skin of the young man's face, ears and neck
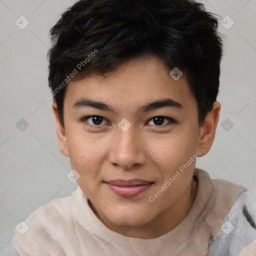
[[(109, 104), (116, 113), (72, 107), (81, 97)], [(141, 105), (164, 98), (179, 102), (183, 108), (163, 107), (135, 114)], [(154, 202), (148, 198), (197, 151), (200, 156), (209, 151), (220, 107), (216, 101), (199, 127), (196, 100), (185, 73), (175, 81), (155, 57), (129, 60), (106, 77), (94, 75), (70, 82), (64, 96), (64, 128), (52, 104), (60, 151), (70, 157), (72, 169), (79, 173), (77, 182), (90, 207), (109, 229), (142, 239), (172, 230), (189, 212), (197, 189), (192, 177), (195, 161)], [(103, 119), (80, 121), (91, 115)], [(176, 122), (164, 118), (159, 124), (155, 116)], [(131, 124), (127, 131), (118, 127), (123, 118)], [(103, 182), (133, 178), (154, 183), (136, 196), (122, 197)]]

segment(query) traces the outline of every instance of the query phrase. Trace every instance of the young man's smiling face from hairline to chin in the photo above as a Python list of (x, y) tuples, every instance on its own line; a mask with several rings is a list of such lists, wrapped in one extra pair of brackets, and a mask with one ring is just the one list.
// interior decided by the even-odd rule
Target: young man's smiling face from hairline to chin
[(144, 225), (170, 209), (191, 183), (191, 157), (204, 154), (185, 74), (174, 80), (153, 57), (70, 82), (64, 124), (60, 149), (80, 188), (96, 214), (116, 225)]

